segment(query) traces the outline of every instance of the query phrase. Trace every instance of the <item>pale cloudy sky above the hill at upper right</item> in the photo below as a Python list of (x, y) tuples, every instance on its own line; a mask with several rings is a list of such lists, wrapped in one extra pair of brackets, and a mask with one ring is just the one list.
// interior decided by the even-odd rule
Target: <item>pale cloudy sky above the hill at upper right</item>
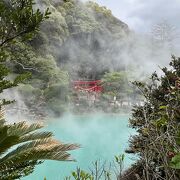
[(150, 32), (153, 24), (167, 20), (180, 28), (180, 0), (94, 0), (139, 32)]

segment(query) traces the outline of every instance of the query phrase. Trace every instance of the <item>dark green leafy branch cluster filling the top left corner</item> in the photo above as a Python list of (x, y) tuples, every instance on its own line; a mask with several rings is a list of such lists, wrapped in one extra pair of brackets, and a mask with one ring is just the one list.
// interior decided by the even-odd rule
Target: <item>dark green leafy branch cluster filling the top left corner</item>
[(34, 0), (2, 0), (0, 2), (0, 47), (8, 45), (17, 38), (30, 39), (38, 31), (41, 22), (48, 18), (47, 9), (44, 14), (33, 9)]

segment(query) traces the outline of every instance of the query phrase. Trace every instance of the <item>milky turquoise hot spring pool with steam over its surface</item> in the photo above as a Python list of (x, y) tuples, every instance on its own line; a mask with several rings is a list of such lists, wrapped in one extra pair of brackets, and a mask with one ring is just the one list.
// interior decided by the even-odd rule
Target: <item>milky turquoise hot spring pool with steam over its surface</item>
[[(91, 114), (66, 115), (48, 123), (46, 129), (54, 132), (55, 138), (63, 142), (81, 144), (72, 151), (77, 162), (46, 161), (23, 180), (63, 180), (65, 176), (81, 167), (88, 170), (95, 160), (112, 161), (114, 155), (124, 153), (128, 139), (135, 132), (128, 127), (127, 115)], [(125, 167), (132, 163), (132, 157), (125, 155)]]

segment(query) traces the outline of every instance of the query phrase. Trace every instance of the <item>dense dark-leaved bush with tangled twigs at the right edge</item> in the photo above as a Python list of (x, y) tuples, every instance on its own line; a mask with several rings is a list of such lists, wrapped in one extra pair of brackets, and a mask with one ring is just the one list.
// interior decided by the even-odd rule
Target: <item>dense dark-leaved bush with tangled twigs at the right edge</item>
[(130, 139), (131, 153), (140, 157), (141, 179), (173, 179), (179, 176), (179, 107), (180, 58), (172, 57), (171, 69), (163, 68), (163, 76), (156, 73), (150, 83), (134, 82), (146, 99), (144, 106), (136, 106), (130, 119), (138, 135)]

